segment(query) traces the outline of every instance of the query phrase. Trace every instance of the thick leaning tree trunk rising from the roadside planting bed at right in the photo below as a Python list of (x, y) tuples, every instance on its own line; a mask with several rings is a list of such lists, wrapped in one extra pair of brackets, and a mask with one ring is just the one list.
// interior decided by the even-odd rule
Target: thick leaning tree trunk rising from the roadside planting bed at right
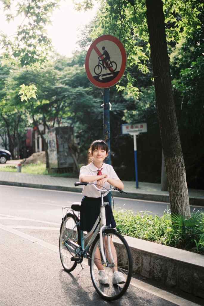
[(178, 132), (167, 53), (163, 2), (146, 0), (156, 107), (166, 166), (171, 212), (190, 217), (184, 158)]

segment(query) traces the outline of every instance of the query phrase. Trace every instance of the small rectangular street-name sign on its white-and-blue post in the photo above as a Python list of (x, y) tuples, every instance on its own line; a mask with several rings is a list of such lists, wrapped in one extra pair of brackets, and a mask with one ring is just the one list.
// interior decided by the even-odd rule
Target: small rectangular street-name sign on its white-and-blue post
[(134, 140), (134, 166), (135, 166), (135, 178), (136, 178), (136, 188), (139, 188), (138, 182), (138, 155), (137, 155), (137, 135), (139, 133), (147, 132), (146, 123), (137, 124), (122, 124), (122, 134), (129, 134), (133, 136)]

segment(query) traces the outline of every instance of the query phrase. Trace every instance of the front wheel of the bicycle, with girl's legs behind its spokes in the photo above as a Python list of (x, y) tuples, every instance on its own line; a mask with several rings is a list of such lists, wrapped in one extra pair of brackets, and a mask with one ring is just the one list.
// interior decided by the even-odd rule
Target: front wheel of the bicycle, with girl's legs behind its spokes
[[(126, 292), (131, 281), (131, 252), (125, 238), (114, 229), (104, 231), (103, 249), (106, 266), (103, 262), (98, 235), (91, 248), (91, 280), (96, 291), (103, 299), (117, 300)], [(98, 273), (98, 268), (101, 269), (102, 267), (102, 274), (101, 272)]]

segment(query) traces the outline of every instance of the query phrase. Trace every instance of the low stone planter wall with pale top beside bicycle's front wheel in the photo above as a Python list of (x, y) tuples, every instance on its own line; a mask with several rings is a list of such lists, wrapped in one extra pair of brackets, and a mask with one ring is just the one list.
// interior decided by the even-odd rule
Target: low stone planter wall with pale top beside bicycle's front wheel
[(204, 256), (125, 236), (133, 273), (204, 299)]

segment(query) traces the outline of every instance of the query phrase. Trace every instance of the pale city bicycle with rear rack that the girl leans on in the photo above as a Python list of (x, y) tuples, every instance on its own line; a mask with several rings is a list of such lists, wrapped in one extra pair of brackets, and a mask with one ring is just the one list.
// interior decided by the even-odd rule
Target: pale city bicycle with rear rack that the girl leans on
[[(91, 280), (97, 293), (105, 300), (116, 300), (122, 297), (130, 284), (132, 258), (125, 238), (116, 229), (106, 226), (105, 205), (109, 205), (109, 203), (104, 202), (103, 197), (112, 189), (121, 193), (122, 190), (115, 187), (110, 187), (107, 190), (99, 189), (95, 184), (88, 182), (76, 182), (74, 185), (88, 184), (93, 185), (101, 192), (100, 214), (91, 231), (84, 236), (84, 232), (80, 230), (79, 213), (81, 203), (73, 203), (71, 208), (63, 207), (63, 219), (59, 236), (60, 259), (64, 270), (71, 272), (77, 264), (82, 263), (83, 259), (87, 258), (88, 265), (90, 266)], [(65, 215), (64, 210), (66, 211)], [(78, 216), (76, 212), (78, 212)], [(92, 233), (93, 235), (91, 236)], [(90, 240), (84, 246), (85, 239), (90, 236)], [(102, 263), (103, 271), (105, 271), (109, 280), (109, 285), (103, 285), (99, 282), (97, 263)], [(122, 273), (123, 282), (113, 284), (113, 271), (120, 271)]]

